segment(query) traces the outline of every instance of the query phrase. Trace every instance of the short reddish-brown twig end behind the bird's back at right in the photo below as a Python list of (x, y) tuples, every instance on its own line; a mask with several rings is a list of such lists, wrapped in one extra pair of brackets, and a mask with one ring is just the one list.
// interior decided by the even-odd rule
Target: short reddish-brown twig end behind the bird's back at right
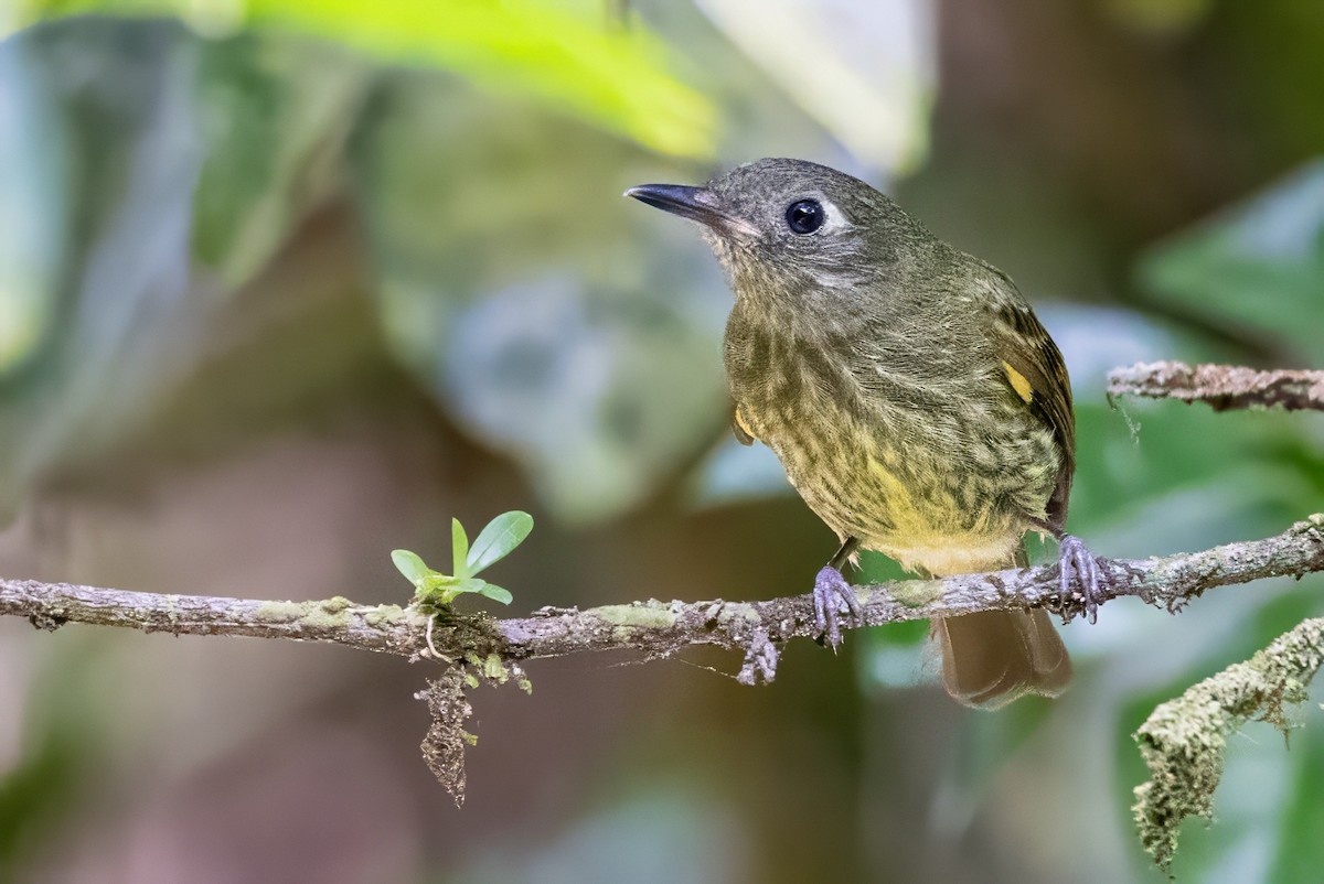
[(1207, 402), (1215, 412), (1272, 408), (1324, 412), (1324, 372), (1260, 372), (1238, 365), (1139, 363), (1108, 373), (1108, 396)]

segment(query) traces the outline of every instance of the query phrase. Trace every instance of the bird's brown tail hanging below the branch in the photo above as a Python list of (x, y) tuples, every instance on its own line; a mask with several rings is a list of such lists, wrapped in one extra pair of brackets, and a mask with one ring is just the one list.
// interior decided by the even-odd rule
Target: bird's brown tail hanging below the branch
[[(1025, 564), (1022, 549), (1004, 566)], [(943, 650), (943, 687), (965, 705), (997, 709), (1026, 693), (1055, 697), (1071, 680), (1071, 658), (1042, 609), (935, 619), (933, 637)]]

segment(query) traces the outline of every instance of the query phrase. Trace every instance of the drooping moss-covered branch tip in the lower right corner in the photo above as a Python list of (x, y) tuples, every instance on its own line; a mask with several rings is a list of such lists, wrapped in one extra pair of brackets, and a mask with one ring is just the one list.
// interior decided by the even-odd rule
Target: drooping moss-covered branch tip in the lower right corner
[(1161, 868), (1172, 863), (1181, 822), (1213, 817), (1227, 734), (1251, 720), (1287, 733), (1284, 708), (1305, 700), (1321, 663), (1324, 618), (1304, 621), (1245, 663), (1164, 703), (1135, 733), (1151, 778), (1136, 786), (1132, 811), (1141, 843)]

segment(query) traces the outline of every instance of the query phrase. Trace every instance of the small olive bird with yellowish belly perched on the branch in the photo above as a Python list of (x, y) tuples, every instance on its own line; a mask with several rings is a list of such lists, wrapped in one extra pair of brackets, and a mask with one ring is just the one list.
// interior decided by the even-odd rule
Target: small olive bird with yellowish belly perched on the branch
[[(842, 574), (861, 549), (948, 577), (1025, 566), (1058, 541), (1063, 599), (1092, 621), (1110, 580), (1066, 532), (1071, 384), (1010, 277), (933, 236), (867, 183), (769, 157), (706, 185), (625, 192), (699, 225), (735, 303), (723, 361), (732, 431), (772, 449), (841, 547), (814, 578), (822, 639), (862, 609)], [(998, 708), (1071, 678), (1042, 607), (935, 618), (943, 685)]]

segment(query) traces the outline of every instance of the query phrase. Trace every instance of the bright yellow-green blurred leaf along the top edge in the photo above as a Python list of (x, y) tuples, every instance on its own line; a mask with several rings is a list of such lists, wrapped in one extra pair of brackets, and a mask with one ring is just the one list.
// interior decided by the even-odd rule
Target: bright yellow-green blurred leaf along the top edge
[(173, 15), (200, 33), (273, 26), (352, 46), (383, 61), (454, 71), (677, 156), (708, 156), (714, 111), (667, 70), (665, 46), (641, 26), (538, 0), (36, 0), (30, 24), (75, 13)]

